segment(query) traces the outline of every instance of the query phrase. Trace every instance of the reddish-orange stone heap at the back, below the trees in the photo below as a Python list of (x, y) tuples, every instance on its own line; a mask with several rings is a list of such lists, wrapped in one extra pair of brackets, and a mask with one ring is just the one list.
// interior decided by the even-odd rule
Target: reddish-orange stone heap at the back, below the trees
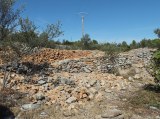
[(56, 60), (88, 57), (90, 54), (91, 54), (90, 51), (56, 50), (50, 48), (43, 48), (38, 53), (34, 53), (32, 55), (24, 57), (23, 62), (51, 63)]

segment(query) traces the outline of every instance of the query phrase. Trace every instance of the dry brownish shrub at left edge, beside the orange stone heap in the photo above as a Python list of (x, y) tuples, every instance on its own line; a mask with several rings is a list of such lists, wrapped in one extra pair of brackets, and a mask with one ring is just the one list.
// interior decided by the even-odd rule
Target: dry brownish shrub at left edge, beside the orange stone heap
[[(2, 88), (6, 87), (7, 81), (12, 71), (12, 65), (20, 62), (24, 55), (32, 53), (33, 49), (28, 47), (25, 43), (13, 42), (13, 41), (1, 41), (0, 42), (0, 58), (3, 62), (1, 68), (4, 72)], [(7, 68), (11, 66), (11, 68)]]

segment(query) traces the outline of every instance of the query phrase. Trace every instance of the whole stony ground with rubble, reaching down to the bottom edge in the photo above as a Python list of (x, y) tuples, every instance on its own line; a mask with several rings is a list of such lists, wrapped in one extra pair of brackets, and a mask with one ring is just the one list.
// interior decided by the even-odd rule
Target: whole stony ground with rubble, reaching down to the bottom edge
[(16, 66), (0, 92), (2, 119), (160, 119), (160, 92), (146, 68), (151, 49), (122, 53), (116, 75), (108, 73), (112, 64), (103, 52), (66, 52), (48, 49), (25, 57), (49, 62), (34, 65), (36, 71), (31, 64)]

